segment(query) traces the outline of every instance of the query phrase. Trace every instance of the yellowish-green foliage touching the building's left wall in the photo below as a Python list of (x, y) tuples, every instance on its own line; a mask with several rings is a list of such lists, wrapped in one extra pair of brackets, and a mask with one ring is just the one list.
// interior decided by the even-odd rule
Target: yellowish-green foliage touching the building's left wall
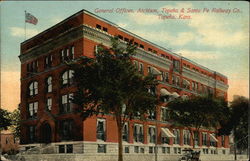
[(19, 138), (21, 135), (21, 117), (20, 117), (20, 109), (15, 109), (9, 115), (11, 119), (10, 130), (13, 132), (14, 137)]

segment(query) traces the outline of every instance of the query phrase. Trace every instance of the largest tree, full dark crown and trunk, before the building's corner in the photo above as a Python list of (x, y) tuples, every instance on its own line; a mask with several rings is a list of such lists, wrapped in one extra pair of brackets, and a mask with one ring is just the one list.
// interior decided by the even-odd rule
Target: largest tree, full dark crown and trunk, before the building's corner
[(126, 46), (117, 37), (111, 48), (98, 45), (95, 58), (82, 58), (70, 66), (75, 71), (78, 91), (73, 102), (79, 105), (83, 119), (110, 113), (114, 116), (118, 134), (118, 160), (123, 160), (122, 130), (124, 123), (140, 114), (145, 118), (155, 110), (156, 95), (149, 92), (157, 85), (154, 76), (143, 76), (131, 61), (136, 47), (131, 40)]

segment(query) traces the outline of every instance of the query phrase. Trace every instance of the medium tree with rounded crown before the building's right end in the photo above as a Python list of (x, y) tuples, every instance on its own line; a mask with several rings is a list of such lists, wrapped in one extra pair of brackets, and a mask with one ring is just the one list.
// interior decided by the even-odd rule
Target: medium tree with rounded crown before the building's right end
[(174, 126), (187, 127), (195, 148), (194, 131), (200, 128), (217, 129), (227, 120), (228, 107), (222, 99), (212, 96), (195, 96), (190, 99), (177, 98), (168, 104), (170, 120)]

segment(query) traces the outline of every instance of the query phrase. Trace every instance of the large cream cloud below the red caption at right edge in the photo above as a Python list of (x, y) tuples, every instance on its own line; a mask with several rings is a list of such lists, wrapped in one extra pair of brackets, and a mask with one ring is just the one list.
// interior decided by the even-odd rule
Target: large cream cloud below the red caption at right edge
[(188, 26), (193, 28), (199, 42), (215, 47), (239, 46), (248, 42), (248, 31), (227, 30), (222, 17), (215, 14), (193, 14)]

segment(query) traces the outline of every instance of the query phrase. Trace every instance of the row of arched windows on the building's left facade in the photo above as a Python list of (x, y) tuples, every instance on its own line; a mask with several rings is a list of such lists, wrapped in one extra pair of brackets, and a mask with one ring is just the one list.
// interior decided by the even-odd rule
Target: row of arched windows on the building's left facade
[[(67, 70), (65, 71), (62, 76), (61, 76), (61, 84), (62, 87), (66, 87), (66, 86), (70, 86), (73, 84), (73, 70)], [(45, 79), (45, 88), (46, 88), (46, 92), (50, 93), (52, 92), (52, 76), (49, 76), (48, 78)], [(29, 84), (29, 88), (28, 88), (28, 94), (29, 96), (35, 96), (38, 94), (38, 82), (37, 81), (33, 81)]]

